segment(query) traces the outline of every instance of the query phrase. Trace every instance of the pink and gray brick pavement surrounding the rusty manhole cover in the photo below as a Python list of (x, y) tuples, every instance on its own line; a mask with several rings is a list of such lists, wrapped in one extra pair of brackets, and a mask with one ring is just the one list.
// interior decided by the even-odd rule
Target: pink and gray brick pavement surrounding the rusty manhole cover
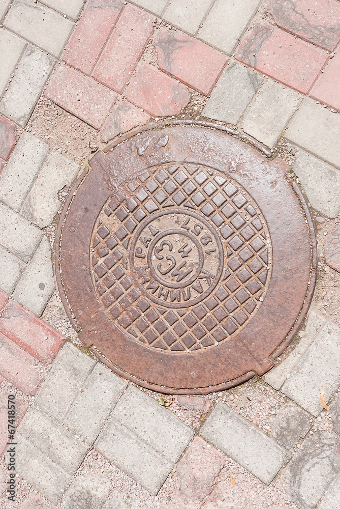
[[(23, 509), (60, 507), (61, 500), (72, 509), (131, 509), (133, 497), (119, 492), (129, 477), (136, 483), (129, 493), (143, 507), (158, 503), (147, 492), (161, 490), (169, 507), (229, 509), (237, 500), (243, 509), (248, 501), (232, 473), (226, 479), (230, 458), (239, 472), (254, 474), (246, 483), (258, 482), (263, 497), (286, 478), (280, 490), (291, 507), (338, 507), (340, 329), (316, 303), (296, 348), (264, 377), (277, 397), (286, 396), (268, 433), (229, 408), (229, 398), (213, 403), (209, 415), (203, 405), (194, 430), (70, 342), (58, 353), (64, 336), (39, 318), (55, 290), (49, 232), (59, 191), (80, 167), (26, 125), (44, 94), (98, 130), (100, 146), (171, 117), (224, 122), (274, 157), (288, 147), (315, 216), (334, 221), (319, 247), (335, 290), (339, 14), (338, 0), (0, 1), (0, 390), (2, 398), (9, 386), (17, 391), (18, 472), (41, 493), (27, 496)], [(105, 468), (86, 473), (92, 447)], [(276, 507), (283, 499), (268, 500)]]

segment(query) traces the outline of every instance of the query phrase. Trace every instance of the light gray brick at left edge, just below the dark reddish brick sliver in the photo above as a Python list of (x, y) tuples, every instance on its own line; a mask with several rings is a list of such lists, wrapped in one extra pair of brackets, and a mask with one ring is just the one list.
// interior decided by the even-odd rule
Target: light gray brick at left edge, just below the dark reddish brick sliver
[(0, 178), (0, 201), (19, 212), (49, 151), (48, 145), (24, 131)]

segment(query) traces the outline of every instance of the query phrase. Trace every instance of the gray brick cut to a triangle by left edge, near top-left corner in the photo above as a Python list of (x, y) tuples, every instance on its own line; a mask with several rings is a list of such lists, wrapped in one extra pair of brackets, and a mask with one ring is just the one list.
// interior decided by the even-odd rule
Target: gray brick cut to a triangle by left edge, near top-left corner
[[(0, 3), (1, 19), (1, 3)], [(8, 30), (0, 29), (0, 54), (1, 54), (1, 73), (0, 73), (0, 96), (3, 95), (8, 80), (10, 79), (20, 56), (26, 46), (26, 41), (19, 39)]]

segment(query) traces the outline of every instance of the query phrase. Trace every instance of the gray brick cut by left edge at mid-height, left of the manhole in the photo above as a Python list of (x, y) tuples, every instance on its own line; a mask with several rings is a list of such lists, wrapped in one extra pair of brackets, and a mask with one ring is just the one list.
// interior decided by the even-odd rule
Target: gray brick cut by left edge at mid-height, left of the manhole
[(39, 228), (0, 203), (0, 245), (23, 262), (28, 262), (42, 236)]

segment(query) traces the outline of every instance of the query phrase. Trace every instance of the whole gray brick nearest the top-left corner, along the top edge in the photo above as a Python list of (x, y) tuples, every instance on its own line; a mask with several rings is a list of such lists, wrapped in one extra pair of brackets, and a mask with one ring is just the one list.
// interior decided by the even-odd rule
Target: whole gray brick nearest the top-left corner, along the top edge
[(58, 57), (74, 23), (32, 0), (14, 0), (5, 26)]

